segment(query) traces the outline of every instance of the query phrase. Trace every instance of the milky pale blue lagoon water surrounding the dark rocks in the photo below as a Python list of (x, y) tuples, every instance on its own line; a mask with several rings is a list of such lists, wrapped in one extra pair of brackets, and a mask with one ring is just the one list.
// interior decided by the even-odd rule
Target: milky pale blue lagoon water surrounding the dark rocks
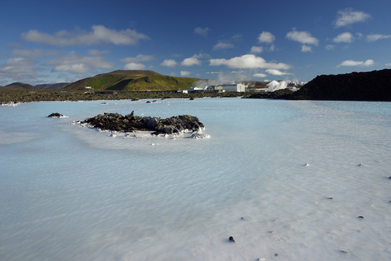
[[(0, 107), (0, 260), (391, 259), (391, 103), (145, 101)], [(69, 124), (132, 110), (211, 137)]]

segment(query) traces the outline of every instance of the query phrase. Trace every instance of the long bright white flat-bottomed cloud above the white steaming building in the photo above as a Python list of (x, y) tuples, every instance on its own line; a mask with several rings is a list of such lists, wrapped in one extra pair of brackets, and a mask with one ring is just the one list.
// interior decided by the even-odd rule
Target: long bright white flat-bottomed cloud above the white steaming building
[(210, 59), (209, 65), (225, 65), (229, 68), (276, 68), (284, 70), (291, 68), (290, 65), (285, 63), (267, 63), (264, 58), (255, 56), (254, 54), (245, 54), (243, 56), (234, 57), (228, 60)]

